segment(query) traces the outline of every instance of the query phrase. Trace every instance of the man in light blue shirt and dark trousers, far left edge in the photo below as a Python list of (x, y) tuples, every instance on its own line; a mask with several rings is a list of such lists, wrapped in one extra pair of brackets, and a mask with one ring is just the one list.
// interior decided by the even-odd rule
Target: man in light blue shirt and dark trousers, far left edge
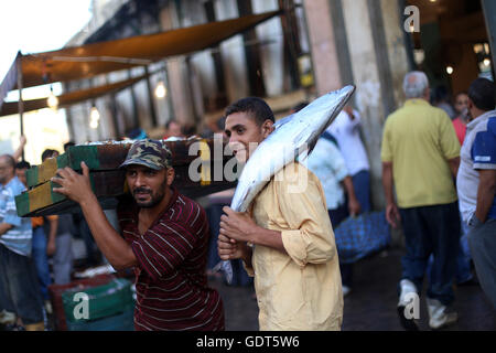
[(18, 216), (14, 197), (25, 190), (15, 161), (0, 156), (0, 307), (14, 312), (28, 331), (43, 331), (43, 301), (32, 256), (30, 218)]

